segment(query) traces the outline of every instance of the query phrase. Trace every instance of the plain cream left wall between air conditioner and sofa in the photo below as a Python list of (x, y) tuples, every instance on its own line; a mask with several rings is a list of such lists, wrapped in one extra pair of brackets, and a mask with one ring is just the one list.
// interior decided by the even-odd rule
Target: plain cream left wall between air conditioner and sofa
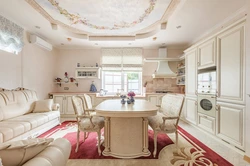
[(47, 51), (28, 42), (24, 33), (24, 47), (18, 54), (0, 51), (0, 87), (24, 87), (37, 92), (39, 99), (48, 98), (55, 90), (55, 65), (57, 50)]

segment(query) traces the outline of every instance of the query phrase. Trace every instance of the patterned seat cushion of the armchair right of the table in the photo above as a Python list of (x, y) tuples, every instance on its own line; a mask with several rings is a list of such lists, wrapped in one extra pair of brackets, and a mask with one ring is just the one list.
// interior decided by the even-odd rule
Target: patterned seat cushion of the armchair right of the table
[(165, 126), (162, 126), (164, 114), (157, 112), (157, 115), (148, 117), (148, 124), (153, 130), (172, 133), (176, 130), (176, 120), (166, 120)]

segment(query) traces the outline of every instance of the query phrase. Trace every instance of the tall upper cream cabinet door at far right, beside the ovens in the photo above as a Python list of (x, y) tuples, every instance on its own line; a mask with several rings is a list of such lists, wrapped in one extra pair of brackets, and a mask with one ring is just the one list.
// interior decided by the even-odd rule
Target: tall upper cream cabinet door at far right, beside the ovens
[(245, 22), (217, 36), (218, 101), (244, 104)]

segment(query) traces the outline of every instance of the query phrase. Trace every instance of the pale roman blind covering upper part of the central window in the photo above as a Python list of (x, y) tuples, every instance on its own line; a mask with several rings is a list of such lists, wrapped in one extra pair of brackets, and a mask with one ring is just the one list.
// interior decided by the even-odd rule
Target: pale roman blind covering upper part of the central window
[(142, 71), (141, 48), (102, 49), (102, 70)]

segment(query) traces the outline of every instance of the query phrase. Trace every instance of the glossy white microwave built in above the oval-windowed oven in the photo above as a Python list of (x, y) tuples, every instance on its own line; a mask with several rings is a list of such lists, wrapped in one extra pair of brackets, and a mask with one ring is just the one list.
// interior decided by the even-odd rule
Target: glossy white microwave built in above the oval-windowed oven
[(198, 93), (216, 94), (216, 71), (209, 71), (198, 74)]

